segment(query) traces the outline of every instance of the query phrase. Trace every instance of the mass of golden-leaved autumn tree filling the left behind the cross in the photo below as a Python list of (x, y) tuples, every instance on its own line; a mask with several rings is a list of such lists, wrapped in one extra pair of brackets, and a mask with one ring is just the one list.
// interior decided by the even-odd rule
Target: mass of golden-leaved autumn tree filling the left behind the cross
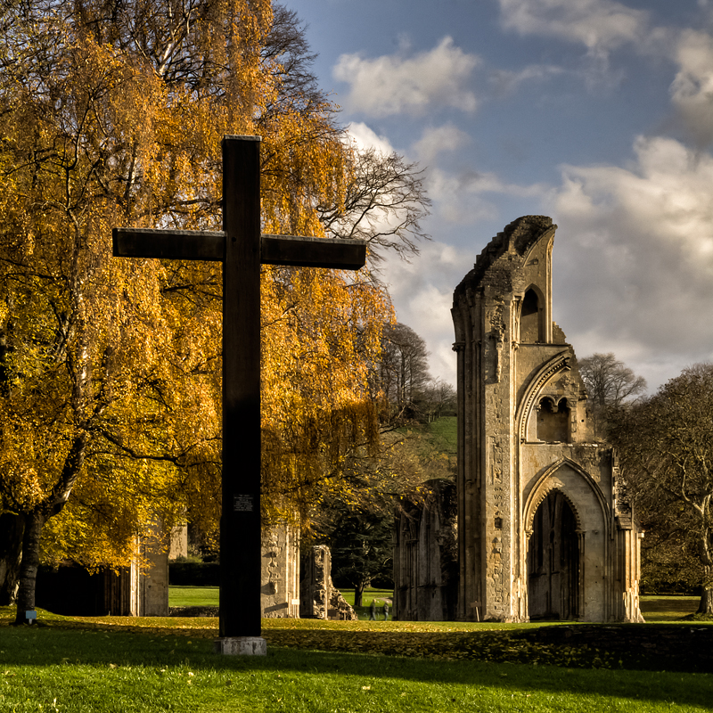
[[(220, 268), (111, 258), (111, 228), (220, 229), (225, 134), (263, 136), (266, 233), (353, 225), (401, 250), (428, 201), (414, 166), (383, 157), (378, 215), (354, 202), (364, 155), (269, 0), (0, 12), (0, 603), (19, 581), (21, 621), (40, 552), (119, 567), (150, 520), (217, 526)], [(369, 365), (391, 317), (368, 269), (266, 266), (262, 311), (270, 521), (340, 488), (348, 449), (375, 442)]]

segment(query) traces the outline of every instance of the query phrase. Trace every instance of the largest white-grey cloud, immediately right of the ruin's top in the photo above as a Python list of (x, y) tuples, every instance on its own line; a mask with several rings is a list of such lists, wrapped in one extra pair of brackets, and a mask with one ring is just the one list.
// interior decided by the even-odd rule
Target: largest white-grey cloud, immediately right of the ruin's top
[(629, 168), (564, 167), (555, 318), (580, 356), (613, 351), (656, 387), (713, 358), (713, 157), (639, 138)]

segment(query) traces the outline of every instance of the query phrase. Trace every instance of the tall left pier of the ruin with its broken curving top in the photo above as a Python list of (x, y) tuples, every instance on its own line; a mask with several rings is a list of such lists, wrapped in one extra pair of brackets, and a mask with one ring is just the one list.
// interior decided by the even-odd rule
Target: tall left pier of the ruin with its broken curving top
[[(455, 349), (459, 392), (459, 618), (512, 619), (512, 580), (520, 561), (520, 504), (516, 472), (515, 378), (520, 299), (537, 282), (542, 324), (549, 253), (543, 235), (553, 233), (546, 217), (520, 218), (479, 255), (455, 290)], [(535, 250), (533, 251), (533, 247)], [(534, 257), (533, 257), (534, 256)], [(529, 265), (528, 265), (529, 263)], [(523, 273), (523, 268), (527, 268)], [(542, 284), (541, 284), (542, 283)], [(548, 327), (542, 328), (546, 337)]]

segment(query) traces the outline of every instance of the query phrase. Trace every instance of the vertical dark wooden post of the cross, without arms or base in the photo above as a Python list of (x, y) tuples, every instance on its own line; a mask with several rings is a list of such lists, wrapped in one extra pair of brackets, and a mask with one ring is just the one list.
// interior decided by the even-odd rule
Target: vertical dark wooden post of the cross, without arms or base
[(223, 139), (220, 635), (260, 635), (259, 139)]

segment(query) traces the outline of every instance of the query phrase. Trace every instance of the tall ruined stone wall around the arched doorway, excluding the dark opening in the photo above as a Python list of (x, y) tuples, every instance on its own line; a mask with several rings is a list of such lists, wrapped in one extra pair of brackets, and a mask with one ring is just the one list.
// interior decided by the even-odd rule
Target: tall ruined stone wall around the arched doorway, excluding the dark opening
[(553, 489), (580, 523), (577, 616), (638, 612), (637, 536), (625, 512), (615, 534), (611, 450), (594, 443), (574, 350), (552, 322), (555, 228), (514, 221), (455, 289), (459, 619), (528, 619), (531, 499)]

